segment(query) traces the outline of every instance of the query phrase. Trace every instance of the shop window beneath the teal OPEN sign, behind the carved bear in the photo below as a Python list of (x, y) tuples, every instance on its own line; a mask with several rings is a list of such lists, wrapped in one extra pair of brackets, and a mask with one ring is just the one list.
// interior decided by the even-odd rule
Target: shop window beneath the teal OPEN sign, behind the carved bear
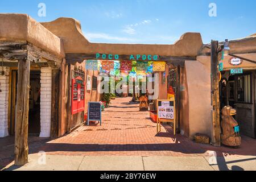
[(237, 77), (237, 101), (251, 103), (251, 75)]

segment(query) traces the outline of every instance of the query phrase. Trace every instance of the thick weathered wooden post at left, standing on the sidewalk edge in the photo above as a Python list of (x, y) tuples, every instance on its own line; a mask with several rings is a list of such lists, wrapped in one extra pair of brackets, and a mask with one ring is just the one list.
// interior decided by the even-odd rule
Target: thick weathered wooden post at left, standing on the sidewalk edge
[(15, 111), (15, 166), (28, 163), (28, 110), (30, 61), (19, 60)]

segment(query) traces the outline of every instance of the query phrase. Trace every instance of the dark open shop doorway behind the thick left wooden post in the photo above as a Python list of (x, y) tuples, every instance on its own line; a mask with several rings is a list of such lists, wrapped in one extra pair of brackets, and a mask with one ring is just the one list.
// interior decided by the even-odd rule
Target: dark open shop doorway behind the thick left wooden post
[[(16, 109), (16, 85), (18, 71), (11, 71), (10, 82), (10, 134), (15, 134), (15, 109)], [(30, 98), (28, 113), (28, 134), (38, 136), (40, 134), (40, 71), (30, 72)]]

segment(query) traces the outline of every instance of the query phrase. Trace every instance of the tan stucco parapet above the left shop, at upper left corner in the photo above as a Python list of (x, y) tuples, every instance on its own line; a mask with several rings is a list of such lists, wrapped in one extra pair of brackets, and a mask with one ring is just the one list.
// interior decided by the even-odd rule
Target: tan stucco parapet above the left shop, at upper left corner
[(65, 55), (60, 38), (27, 14), (0, 14), (0, 40), (28, 41), (56, 56)]

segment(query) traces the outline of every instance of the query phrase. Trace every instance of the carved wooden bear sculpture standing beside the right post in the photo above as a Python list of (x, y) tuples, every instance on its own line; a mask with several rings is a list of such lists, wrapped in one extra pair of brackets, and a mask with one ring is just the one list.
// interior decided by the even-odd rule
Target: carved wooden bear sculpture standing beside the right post
[(238, 147), (241, 145), (241, 137), (239, 132), (235, 132), (235, 127), (238, 127), (238, 123), (232, 115), (236, 115), (236, 109), (231, 106), (225, 106), (222, 109), (221, 142), (225, 146)]

